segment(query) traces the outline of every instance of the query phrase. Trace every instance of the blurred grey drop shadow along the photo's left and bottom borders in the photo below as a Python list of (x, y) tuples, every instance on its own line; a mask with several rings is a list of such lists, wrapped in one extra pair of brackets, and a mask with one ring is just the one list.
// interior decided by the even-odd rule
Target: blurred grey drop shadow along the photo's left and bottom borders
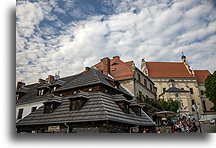
[[(184, 142), (194, 142), (197, 141), (208, 141), (210, 139), (210, 134), (18, 134), (16, 133), (16, 101), (15, 101), (15, 91), (16, 91), (16, 8), (12, 8), (9, 12), (9, 54), (7, 55), (7, 63), (10, 74), (10, 85), (8, 94), (10, 94), (10, 102), (8, 108), (9, 113), (9, 125), (10, 140), (13, 142), (23, 141), (23, 142), (90, 142), (90, 141), (104, 141), (104, 142), (125, 142), (125, 141), (143, 141), (143, 142), (176, 142), (179, 140)], [(11, 90), (12, 88), (12, 90)], [(10, 91), (9, 91), (10, 90)], [(14, 93), (11, 93), (14, 92)]]

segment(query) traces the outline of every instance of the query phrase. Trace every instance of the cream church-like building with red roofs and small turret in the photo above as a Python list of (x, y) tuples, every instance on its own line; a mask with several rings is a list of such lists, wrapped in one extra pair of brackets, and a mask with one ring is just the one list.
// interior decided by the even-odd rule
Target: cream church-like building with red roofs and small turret
[(159, 98), (178, 99), (183, 113), (195, 114), (192, 106), (197, 104), (200, 114), (215, 114), (210, 110), (213, 103), (204, 94), (204, 81), (210, 72), (192, 70), (186, 56), (181, 59), (182, 62), (146, 62), (142, 59), (141, 71), (155, 83)]

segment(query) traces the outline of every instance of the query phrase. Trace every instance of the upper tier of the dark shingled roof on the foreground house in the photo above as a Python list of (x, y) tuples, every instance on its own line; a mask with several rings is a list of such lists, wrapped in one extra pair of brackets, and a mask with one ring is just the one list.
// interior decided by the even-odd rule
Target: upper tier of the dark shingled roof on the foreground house
[[(38, 96), (38, 88), (41, 88), (42, 86), (52, 86), (53, 84), (61, 84), (61, 87), (59, 87), (56, 91), (64, 91), (66, 89), (74, 89), (78, 87), (85, 87), (89, 85), (95, 85), (95, 84), (103, 84), (111, 89), (116, 90), (119, 93), (123, 93), (129, 97), (132, 98), (132, 96), (121, 86), (119, 88), (114, 87), (111, 85), (108, 81), (115, 81), (112, 78), (110, 78), (107, 75), (104, 75), (102, 72), (95, 70), (95, 69), (90, 69), (89, 71), (65, 78), (61, 78), (59, 80), (53, 81), (52, 84), (31, 84), (31, 85), (26, 85), (24, 88), (26, 90), (26, 94), (18, 99), (16, 101), (16, 105), (22, 105), (22, 104), (29, 104), (33, 102), (40, 102), (47, 100), (47, 97), (49, 97), (49, 93), (45, 93), (43, 96)], [(23, 88), (23, 89), (24, 89)]]

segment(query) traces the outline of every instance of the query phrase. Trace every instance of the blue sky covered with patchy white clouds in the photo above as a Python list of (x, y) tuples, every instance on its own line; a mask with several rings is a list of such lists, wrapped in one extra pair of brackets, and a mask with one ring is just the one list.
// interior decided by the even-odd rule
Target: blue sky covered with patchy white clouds
[(104, 57), (216, 70), (215, 0), (16, 2), (16, 81), (80, 73)]

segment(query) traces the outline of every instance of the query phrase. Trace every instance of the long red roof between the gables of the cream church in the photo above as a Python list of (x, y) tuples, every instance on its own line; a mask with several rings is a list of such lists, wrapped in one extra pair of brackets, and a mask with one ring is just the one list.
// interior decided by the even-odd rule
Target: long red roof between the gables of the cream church
[(180, 62), (146, 62), (149, 77), (194, 78), (184, 63)]

